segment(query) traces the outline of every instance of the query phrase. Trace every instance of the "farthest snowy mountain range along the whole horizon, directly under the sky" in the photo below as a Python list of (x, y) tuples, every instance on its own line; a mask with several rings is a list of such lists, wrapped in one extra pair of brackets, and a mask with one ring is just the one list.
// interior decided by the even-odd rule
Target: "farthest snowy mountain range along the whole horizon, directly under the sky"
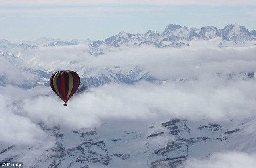
[[(247, 42), (256, 41), (256, 30), (248, 31), (246, 27), (231, 24), (222, 29), (214, 26), (205, 26), (201, 29), (195, 27), (188, 29), (185, 26), (170, 24), (166, 26), (162, 33), (155, 31), (147, 31), (145, 34), (130, 34), (121, 31), (118, 35), (113, 35), (103, 41), (92, 41), (90, 39), (71, 39), (63, 40), (59, 38), (42, 37), (34, 41), (18, 41), (11, 42), (5, 39), (0, 40), (0, 49), (14, 49), (25, 48), (33, 49), (38, 46), (66, 46), (88, 44), (92, 51), (92, 55), (100, 55), (101, 50), (98, 48), (100, 45), (108, 45), (111, 47), (120, 47), (122, 45), (154, 45), (155, 47), (176, 47), (189, 46), (189, 41), (192, 40), (210, 40), (217, 37), (222, 37), (225, 41), (234, 42)], [(98, 52), (96, 52), (98, 51)]]

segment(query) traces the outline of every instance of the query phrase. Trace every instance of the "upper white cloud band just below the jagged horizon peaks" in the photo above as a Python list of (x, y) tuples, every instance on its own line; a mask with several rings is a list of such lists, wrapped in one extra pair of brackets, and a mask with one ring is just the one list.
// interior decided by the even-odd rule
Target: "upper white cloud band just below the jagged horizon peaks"
[[(40, 47), (27, 51), (21, 56), (26, 62), (48, 72), (73, 69), (84, 76), (93, 68), (120, 66), (127, 72), (138, 66), (159, 79), (197, 78), (209, 73), (232, 73), (256, 71), (256, 47), (227, 47), (220, 49), (218, 43), (204, 41), (183, 49), (158, 49), (152, 46), (131, 48), (110, 48), (102, 46), (105, 55), (94, 57), (88, 54), (86, 45), (74, 47)], [(203, 46), (203, 47), (201, 47)], [(214, 47), (212, 47), (214, 46)], [(36, 55), (34, 54), (36, 53)], [(74, 64), (69, 64), (75, 61)]]

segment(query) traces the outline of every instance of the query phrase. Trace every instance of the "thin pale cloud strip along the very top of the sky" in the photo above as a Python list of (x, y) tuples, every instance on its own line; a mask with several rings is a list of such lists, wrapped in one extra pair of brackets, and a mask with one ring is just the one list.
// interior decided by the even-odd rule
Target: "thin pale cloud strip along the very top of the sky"
[(254, 0), (23, 0), (21, 3), (19, 0), (2, 0), (2, 5), (70, 5), (70, 4), (83, 4), (83, 5), (255, 5)]

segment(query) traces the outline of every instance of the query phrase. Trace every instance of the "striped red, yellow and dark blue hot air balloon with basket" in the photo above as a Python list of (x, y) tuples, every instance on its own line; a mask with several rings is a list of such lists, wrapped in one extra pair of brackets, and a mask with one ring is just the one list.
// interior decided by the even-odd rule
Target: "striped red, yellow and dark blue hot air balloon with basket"
[(73, 71), (57, 71), (50, 77), (50, 87), (65, 102), (64, 106), (67, 106), (67, 101), (75, 94), (79, 84), (80, 78)]

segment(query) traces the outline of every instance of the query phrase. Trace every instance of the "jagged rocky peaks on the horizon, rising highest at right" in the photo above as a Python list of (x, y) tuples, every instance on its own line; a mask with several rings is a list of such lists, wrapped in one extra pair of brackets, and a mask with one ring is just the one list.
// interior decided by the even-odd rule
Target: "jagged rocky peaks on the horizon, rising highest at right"
[[(168, 25), (162, 33), (149, 30), (145, 34), (130, 34), (121, 31), (118, 35), (113, 35), (103, 41), (95, 41), (90, 45), (91, 48), (99, 47), (100, 45), (109, 45), (113, 47), (120, 47), (121, 45), (144, 45), (151, 44), (155, 47), (182, 47), (189, 46), (185, 41), (193, 39), (209, 40), (216, 37), (222, 37), (226, 41), (252, 41), (256, 40), (255, 30), (249, 32), (244, 26), (238, 24), (231, 24), (225, 26), (223, 29), (218, 29), (214, 26), (188, 29), (180, 25)], [(184, 41), (185, 40), (185, 41)], [(178, 44), (167, 45), (166, 42), (176, 42)]]

